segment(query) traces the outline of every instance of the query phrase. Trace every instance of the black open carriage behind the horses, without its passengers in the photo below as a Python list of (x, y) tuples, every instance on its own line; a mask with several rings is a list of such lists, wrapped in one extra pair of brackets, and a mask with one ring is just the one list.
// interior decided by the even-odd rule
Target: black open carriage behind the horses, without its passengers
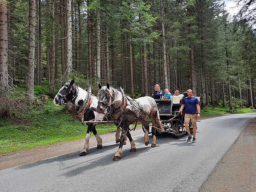
[[(200, 102), (200, 97), (196, 98)], [(162, 126), (165, 132), (172, 133), (173, 137), (179, 137), (187, 133), (184, 126), (184, 112), (180, 112), (182, 100), (183, 96), (172, 96), (171, 100), (155, 100)], [(191, 122), (188, 128), (192, 133), (193, 127)]]

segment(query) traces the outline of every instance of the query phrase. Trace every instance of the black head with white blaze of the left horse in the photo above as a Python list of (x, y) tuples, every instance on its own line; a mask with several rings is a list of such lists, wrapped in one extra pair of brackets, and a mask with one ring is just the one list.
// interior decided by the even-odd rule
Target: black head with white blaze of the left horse
[(53, 99), (53, 103), (57, 106), (68, 103), (73, 100), (76, 96), (76, 85), (74, 84), (75, 80), (72, 80), (70, 83), (66, 83), (60, 88), (59, 92)]

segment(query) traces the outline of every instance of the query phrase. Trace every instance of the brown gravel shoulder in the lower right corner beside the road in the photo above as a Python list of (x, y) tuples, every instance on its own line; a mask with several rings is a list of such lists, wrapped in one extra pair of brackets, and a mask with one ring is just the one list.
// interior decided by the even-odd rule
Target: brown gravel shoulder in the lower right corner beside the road
[(200, 192), (256, 192), (256, 119), (244, 128)]

